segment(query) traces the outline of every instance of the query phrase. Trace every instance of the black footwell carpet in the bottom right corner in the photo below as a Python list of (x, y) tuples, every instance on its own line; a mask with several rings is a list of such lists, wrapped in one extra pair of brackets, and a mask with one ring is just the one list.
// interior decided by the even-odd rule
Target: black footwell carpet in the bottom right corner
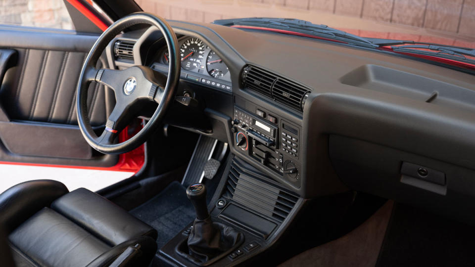
[(377, 266), (474, 266), (474, 240), (473, 226), (397, 204)]

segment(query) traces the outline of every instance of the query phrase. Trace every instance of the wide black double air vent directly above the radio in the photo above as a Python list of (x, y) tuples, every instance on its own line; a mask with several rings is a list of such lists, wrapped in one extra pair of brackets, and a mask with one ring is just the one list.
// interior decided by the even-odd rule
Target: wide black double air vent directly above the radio
[(261, 93), (298, 111), (303, 110), (308, 93), (312, 90), (255, 66), (244, 68), (242, 80), (244, 88)]

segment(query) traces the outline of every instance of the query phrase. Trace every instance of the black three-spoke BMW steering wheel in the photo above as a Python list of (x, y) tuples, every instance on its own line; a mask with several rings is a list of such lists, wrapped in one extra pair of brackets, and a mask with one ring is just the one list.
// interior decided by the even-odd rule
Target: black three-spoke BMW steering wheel
[[(168, 45), (168, 77), (157, 74), (149, 67), (133, 66), (124, 70), (97, 69), (100, 54), (115, 36), (123, 30), (137, 24), (157, 27)], [(160, 17), (150, 13), (138, 12), (114, 22), (97, 39), (79, 77), (77, 88), (77, 116), (79, 128), (86, 141), (97, 151), (105, 154), (121, 154), (139, 147), (153, 134), (173, 101), (180, 79), (180, 53), (177, 36), (170, 25)], [(88, 89), (95, 82), (113, 89), (116, 104), (105, 124), (105, 130), (97, 136), (91, 127), (88, 115)], [(148, 123), (132, 138), (113, 143), (114, 139), (127, 125), (132, 116), (140, 110), (145, 102), (155, 101), (158, 107)]]

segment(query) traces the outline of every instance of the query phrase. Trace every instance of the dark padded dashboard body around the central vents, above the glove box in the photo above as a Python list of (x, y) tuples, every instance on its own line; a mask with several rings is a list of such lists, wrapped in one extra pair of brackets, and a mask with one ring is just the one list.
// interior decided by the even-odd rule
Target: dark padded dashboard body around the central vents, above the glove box
[[(332, 134), (474, 167), (471, 162), (475, 162), (475, 155), (470, 149), (475, 149), (475, 141), (470, 136), (475, 135), (475, 83), (469, 73), (303, 37), (215, 24), (170, 24), (177, 35), (186, 36), (180, 41), (198, 38), (209, 47), (208, 55), (213, 51), (222, 59), (229, 72), (221, 80), (230, 81), (233, 97), (242, 97), (302, 128), (302, 186), (293, 188), (302, 196), (339, 190), (340, 179), (328, 151)], [(152, 36), (152, 32), (148, 29), (123, 37), (141, 39)], [(161, 57), (165, 49), (161, 46), (150, 52)], [(198, 69), (206, 64), (204, 58), (201, 60)], [(311, 88), (303, 113), (243, 88), (242, 71), (248, 64)], [(429, 99), (434, 91), (435, 100)], [(228, 111), (217, 111), (232, 117)], [(463, 134), (455, 134), (457, 131)], [(465, 146), (461, 148), (460, 143)], [(234, 149), (232, 146), (236, 152)], [(466, 156), (454, 156), (456, 151)]]

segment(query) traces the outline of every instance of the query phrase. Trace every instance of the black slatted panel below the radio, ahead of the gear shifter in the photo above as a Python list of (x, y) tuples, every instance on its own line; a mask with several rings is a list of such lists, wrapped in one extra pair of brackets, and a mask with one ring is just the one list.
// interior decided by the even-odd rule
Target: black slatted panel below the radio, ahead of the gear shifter
[(298, 196), (264, 179), (256, 178), (234, 160), (224, 197), (282, 223)]

